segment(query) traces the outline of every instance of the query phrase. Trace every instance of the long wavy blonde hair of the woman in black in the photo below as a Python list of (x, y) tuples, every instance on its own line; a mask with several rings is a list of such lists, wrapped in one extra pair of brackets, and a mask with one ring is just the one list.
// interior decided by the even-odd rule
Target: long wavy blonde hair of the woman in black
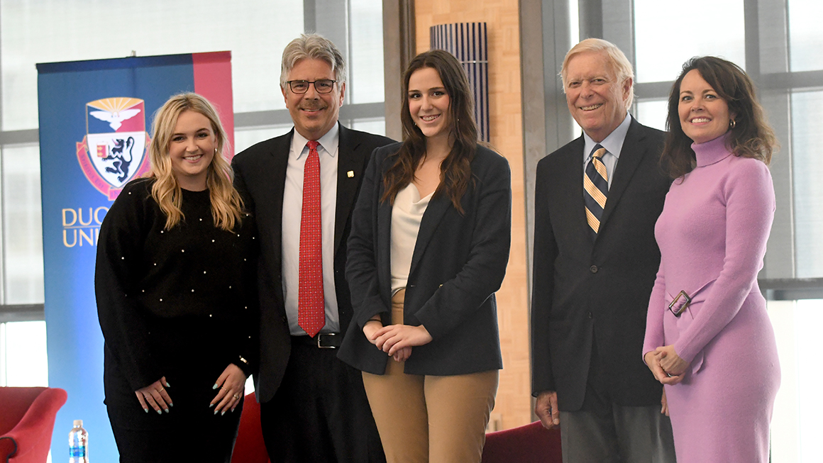
[(212, 219), (217, 227), (232, 230), (241, 220), (243, 200), (235, 190), (232, 182), (234, 172), (229, 161), (223, 156), (223, 150), (228, 145), (226, 132), (220, 123), (212, 104), (195, 93), (181, 93), (172, 96), (155, 113), (151, 124), (151, 144), (149, 145), (149, 162), (151, 170), (147, 177), (155, 178), (151, 187), (151, 197), (160, 205), (160, 210), (166, 216), (165, 229), (172, 229), (185, 220), (180, 206), (183, 202), (183, 192), (174, 169), (171, 165), (169, 146), (174, 134), (177, 119), (184, 111), (194, 111), (206, 116), (212, 123), (212, 133), (215, 137), (216, 153), (212, 157), (212, 164), (208, 166), (206, 187), (212, 200)]

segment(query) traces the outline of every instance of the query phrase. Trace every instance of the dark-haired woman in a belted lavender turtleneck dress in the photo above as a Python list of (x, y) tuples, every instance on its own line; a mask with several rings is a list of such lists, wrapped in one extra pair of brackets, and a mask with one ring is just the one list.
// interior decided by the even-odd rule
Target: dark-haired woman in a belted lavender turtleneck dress
[(751, 79), (714, 57), (684, 65), (667, 123), (675, 181), (655, 227), (644, 361), (665, 385), (678, 463), (766, 462), (780, 368), (757, 272), (774, 217), (774, 134)]

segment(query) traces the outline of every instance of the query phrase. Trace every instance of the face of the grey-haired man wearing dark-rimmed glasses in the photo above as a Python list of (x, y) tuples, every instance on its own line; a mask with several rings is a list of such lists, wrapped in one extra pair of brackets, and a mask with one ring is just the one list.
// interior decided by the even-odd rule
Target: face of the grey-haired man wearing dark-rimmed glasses
[[(322, 59), (303, 58), (292, 67), (286, 81), (336, 80), (332, 67)], [(289, 85), (281, 87), (286, 108), (289, 109), (295, 129), (307, 140), (319, 140), (337, 123), (346, 84), (336, 82), (331, 93), (321, 94), (314, 85), (304, 94), (295, 94)]]

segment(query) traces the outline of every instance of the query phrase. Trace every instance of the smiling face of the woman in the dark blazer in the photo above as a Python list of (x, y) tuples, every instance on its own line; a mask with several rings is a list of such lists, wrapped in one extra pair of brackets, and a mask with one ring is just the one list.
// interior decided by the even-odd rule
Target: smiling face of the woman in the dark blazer
[(421, 67), (409, 76), (409, 113), (412, 121), (429, 139), (449, 137), (449, 94), (440, 76), (431, 67)]

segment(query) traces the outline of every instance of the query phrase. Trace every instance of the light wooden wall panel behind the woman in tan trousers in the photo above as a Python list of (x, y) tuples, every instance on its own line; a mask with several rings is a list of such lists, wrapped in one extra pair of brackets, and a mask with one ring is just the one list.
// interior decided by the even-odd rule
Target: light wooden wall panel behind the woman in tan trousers
[(500, 419), (501, 428), (528, 424), (532, 416), (518, 3), (512, 0), (415, 2), (417, 53), (429, 49), (431, 25), (480, 21), (488, 25), (491, 145), (509, 160), (513, 192), (509, 268), (497, 293), (504, 369), (500, 372), (500, 388), (492, 416)]

